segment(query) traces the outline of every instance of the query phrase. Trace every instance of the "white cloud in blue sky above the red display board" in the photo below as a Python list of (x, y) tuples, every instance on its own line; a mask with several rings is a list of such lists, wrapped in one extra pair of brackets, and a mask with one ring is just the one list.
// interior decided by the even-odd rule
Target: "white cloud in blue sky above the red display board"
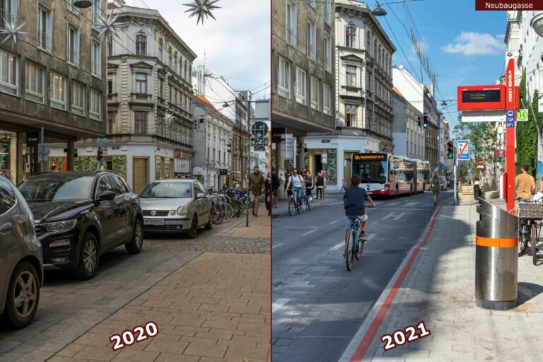
[(495, 55), (506, 49), (506, 45), (490, 34), (462, 31), (454, 42), (441, 48), (444, 53), (470, 55)]

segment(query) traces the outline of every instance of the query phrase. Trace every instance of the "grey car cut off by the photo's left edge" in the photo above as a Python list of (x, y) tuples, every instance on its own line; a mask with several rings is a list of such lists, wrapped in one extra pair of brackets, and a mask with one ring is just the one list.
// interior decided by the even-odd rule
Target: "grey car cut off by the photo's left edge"
[(43, 282), (42, 245), (23, 195), (0, 176), (0, 317), (8, 327), (32, 322)]

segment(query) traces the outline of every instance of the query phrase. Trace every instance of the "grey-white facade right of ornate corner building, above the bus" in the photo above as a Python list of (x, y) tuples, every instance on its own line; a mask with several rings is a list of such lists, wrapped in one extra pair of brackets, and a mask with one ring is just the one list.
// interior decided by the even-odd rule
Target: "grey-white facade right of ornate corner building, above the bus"
[(392, 137), (394, 154), (426, 160), (423, 114), (411, 105), (397, 88), (392, 88)]

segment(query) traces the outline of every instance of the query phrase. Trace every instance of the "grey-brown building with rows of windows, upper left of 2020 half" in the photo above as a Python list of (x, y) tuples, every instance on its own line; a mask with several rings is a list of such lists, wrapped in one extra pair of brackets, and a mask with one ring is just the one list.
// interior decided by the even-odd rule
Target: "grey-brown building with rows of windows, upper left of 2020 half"
[[(37, 139), (68, 153), (59, 169), (73, 170), (74, 142), (106, 132), (106, 41), (93, 29), (106, 1), (76, 8), (73, 1), (0, 1), (0, 28), (23, 25), (16, 44), (0, 45), (0, 174), (21, 182), (49, 170)], [(2, 39), (4, 40), (4, 39)]]

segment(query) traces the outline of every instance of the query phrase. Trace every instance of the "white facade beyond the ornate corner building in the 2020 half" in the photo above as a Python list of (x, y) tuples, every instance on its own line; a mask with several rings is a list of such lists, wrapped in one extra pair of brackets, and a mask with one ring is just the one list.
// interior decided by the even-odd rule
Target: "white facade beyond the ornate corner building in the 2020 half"
[(209, 189), (230, 183), (233, 122), (218, 112), (204, 95), (194, 96), (193, 175)]

